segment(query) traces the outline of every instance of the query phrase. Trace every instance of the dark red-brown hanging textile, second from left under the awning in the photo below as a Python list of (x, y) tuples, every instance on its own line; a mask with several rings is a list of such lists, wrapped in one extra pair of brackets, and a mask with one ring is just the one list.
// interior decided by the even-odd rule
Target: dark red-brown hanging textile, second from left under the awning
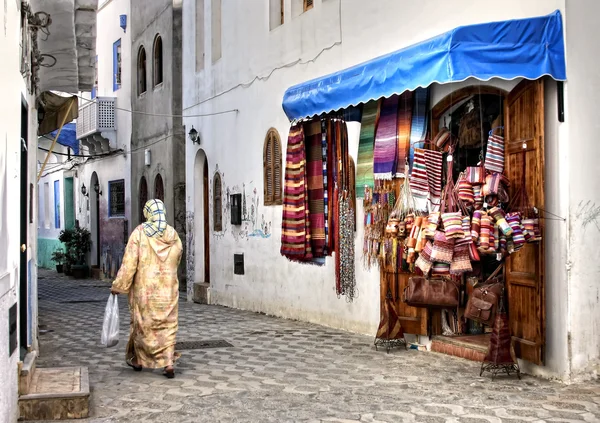
[(304, 135), (311, 247), (313, 257), (322, 257), (325, 250), (325, 202), (321, 121), (316, 120), (305, 124)]

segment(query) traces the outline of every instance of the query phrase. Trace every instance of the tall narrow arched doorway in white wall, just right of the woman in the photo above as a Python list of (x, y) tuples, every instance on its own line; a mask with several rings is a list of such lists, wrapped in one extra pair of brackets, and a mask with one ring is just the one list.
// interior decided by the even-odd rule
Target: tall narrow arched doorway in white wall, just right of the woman
[(210, 209), (208, 159), (198, 150), (194, 162), (194, 282), (210, 283)]

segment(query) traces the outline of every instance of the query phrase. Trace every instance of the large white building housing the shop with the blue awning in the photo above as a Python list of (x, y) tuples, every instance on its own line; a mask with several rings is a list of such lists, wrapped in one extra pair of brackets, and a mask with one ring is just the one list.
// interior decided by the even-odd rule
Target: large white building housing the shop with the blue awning
[[(597, 2), (258, 3), (183, 2), (184, 124), (186, 132), (193, 125), (200, 140), (199, 146), (188, 141), (186, 147), (188, 280), (195, 282), (188, 284), (188, 298), (208, 291), (214, 304), (374, 335), (380, 277), (376, 270), (363, 269), (360, 252), (359, 296), (352, 303), (335, 295), (332, 260), (325, 267), (307, 266), (279, 254), (282, 207), (264, 205), (263, 145), (274, 128), (285, 151), (290, 127), (282, 109), (286, 89), (461, 25), (544, 16), (558, 9), (566, 43), (565, 119), (557, 118), (557, 85), (546, 83), (545, 195), (546, 207), (567, 221), (546, 223), (545, 291), (538, 291), (546, 319), (545, 326), (536, 323), (542, 339), (536, 348), (543, 349), (544, 365), (521, 364), (528, 372), (563, 380), (597, 371), (600, 270), (595, 263), (600, 253), (593, 240), (598, 236), (600, 192), (589, 185), (598, 178), (594, 160), (600, 148), (593, 141), (598, 63), (590, 54), (600, 36), (593, 18), (600, 11)], [(493, 79), (485, 85), (508, 92), (518, 83)], [(478, 84), (432, 84), (431, 105), (461, 87)], [(215, 185), (215, 179), (220, 183)], [(254, 208), (252, 218), (239, 226), (229, 222), (228, 207), (222, 208), (223, 214), (214, 210), (215, 204), (228, 206), (235, 193), (242, 193), (247, 207)], [(362, 238), (359, 224), (357, 245)], [(243, 275), (234, 274), (234, 254), (244, 256)]]

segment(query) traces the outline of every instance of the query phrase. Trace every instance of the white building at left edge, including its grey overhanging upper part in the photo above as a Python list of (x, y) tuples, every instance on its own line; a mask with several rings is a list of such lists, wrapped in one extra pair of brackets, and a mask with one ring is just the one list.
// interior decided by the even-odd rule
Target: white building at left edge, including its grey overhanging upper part
[[(0, 336), (9, 341), (0, 345), (2, 422), (17, 421), (19, 385), (26, 382), (20, 380), (19, 362), (31, 369), (38, 350), (38, 119), (40, 127), (51, 131), (56, 126), (50, 115), (57, 112), (45, 103), (43, 94), (85, 90), (92, 85), (93, 66), (86, 57), (94, 50), (95, 3), (77, 3), (10, 1), (0, 8), (0, 21), (4, 22), (0, 29), (0, 87), (5, 99), (0, 106)], [(44, 27), (46, 14), (52, 16), (52, 35), (40, 37), (35, 48), (32, 25)], [(39, 67), (32, 58), (50, 67)], [(42, 109), (45, 117), (38, 114)], [(64, 116), (64, 111), (58, 113), (54, 119)]]

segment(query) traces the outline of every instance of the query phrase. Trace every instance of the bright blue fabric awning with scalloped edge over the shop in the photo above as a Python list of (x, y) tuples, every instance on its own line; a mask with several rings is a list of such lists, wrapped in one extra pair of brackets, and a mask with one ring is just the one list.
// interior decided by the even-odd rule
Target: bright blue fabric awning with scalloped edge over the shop
[(319, 115), (433, 82), (476, 78), (566, 80), (560, 11), (548, 16), (461, 26), (360, 65), (289, 88), (290, 120)]

